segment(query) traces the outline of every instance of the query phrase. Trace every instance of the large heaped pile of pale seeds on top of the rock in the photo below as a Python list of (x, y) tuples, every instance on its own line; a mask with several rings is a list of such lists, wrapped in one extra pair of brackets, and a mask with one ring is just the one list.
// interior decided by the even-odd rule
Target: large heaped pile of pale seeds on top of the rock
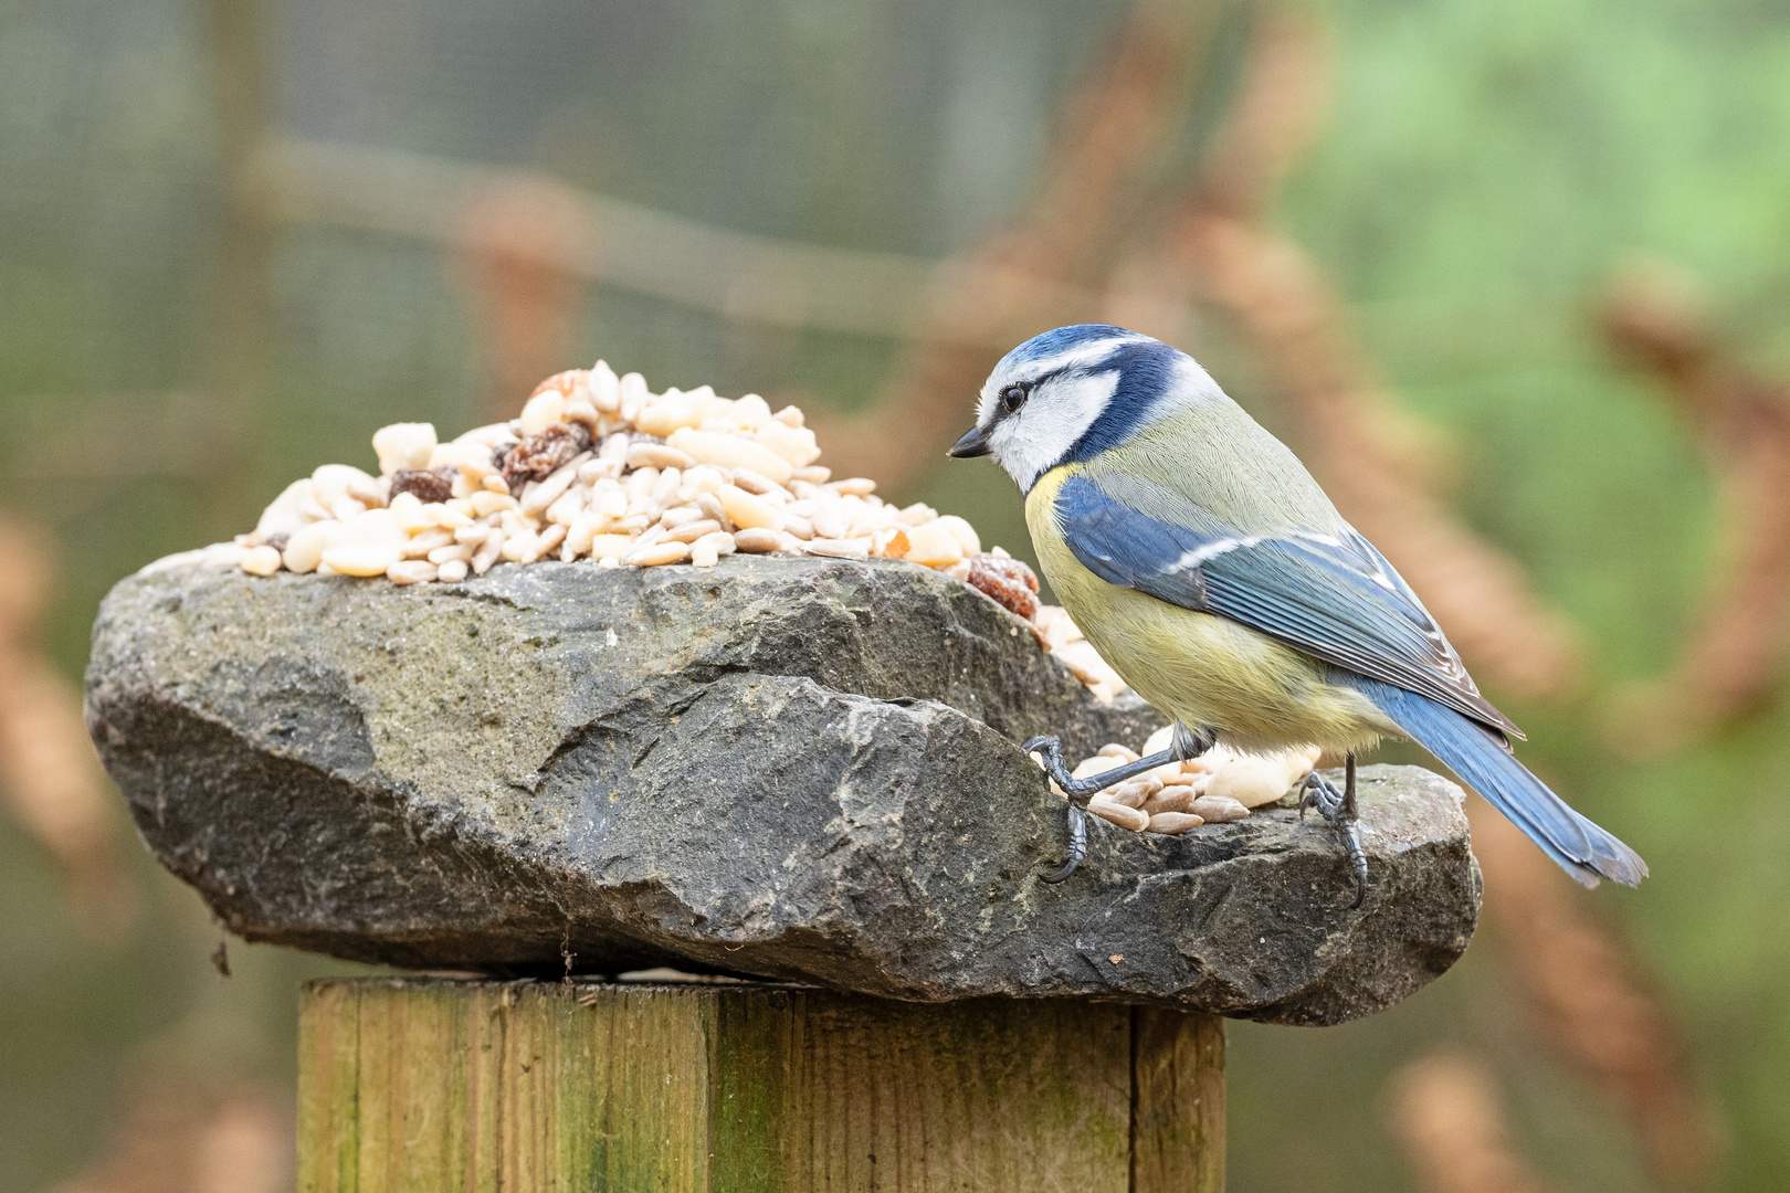
[(652, 393), (603, 361), (560, 372), (519, 419), (440, 442), (428, 422), (372, 436), (379, 474), (326, 463), (294, 481), (251, 535), (186, 551), (181, 565), (458, 583), (499, 562), (714, 567), (723, 554), (906, 560), (942, 571), (1033, 622), (1038, 640), (1101, 699), (1126, 690), (1038, 578), (976, 528), (865, 478), (832, 479), (802, 411), (711, 386)]

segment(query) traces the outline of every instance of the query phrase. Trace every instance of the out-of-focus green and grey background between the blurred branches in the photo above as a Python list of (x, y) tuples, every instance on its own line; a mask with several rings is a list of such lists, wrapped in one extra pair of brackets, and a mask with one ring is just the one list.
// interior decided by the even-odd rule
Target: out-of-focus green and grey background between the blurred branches
[[(1267, 224), (1328, 277), (1396, 406), (1445, 433), (1459, 517), (1577, 628), (1588, 678), (1573, 694), (1486, 687), (1527, 728), (1525, 758), (1652, 866), (1638, 891), (1570, 905), (1670, 1023), (1683, 1057), (1663, 1068), (1726, 1152), (1677, 1177), (1650, 1164), (1645, 1118), (1538, 1023), (1511, 962), (1530, 925), (1496, 918), (1491, 873), (1491, 930), (1407, 1003), (1341, 1028), (1232, 1027), (1232, 1188), (1443, 1188), (1402, 1143), (1394, 1093), (1437, 1048), (1491, 1077), (1511, 1152), (1552, 1188), (1785, 1188), (1790, 717), (1769, 694), (1645, 758), (1613, 748), (1652, 732), (1620, 717), (1611, 732), (1611, 710), (1672, 673), (1740, 531), (1718, 499), (1720, 445), (1670, 386), (1624, 367), (1598, 309), (1636, 261), (1683, 270), (1724, 376), (1790, 379), (1790, 9), (1164, 7), (1194, 13), (1206, 50), (1113, 224), (1147, 220), (1198, 163), (1262, 21), (1319, 30), (1323, 118)], [(1026, 211), (1065, 102), (1128, 13), (1119, 0), (0, 7), (0, 510), (57, 578), (41, 622), (13, 628), (18, 649), (79, 676), (118, 578), (249, 529), (319, 463), (369, 465), (387, 422), (453, 435), (514, 411), (516, 376), (535, 365), (603, 356), (653, 388), (712, 383), (818, 415), (899, 401), (888, 386), (918, 351), (911, 326), (777, 315), (775, 279), (712, 300), (678, 297), (671, 274), (630, 281), (601, 265), (560, 290), (505, 281), (480, 272), (480, 236), (501, 238), (507, 211), (551, 224), (560, 191), (444, 222), (428, 179), (533, 172), (693, 222), (677, 227), (897, 254), (899, 274)], [(315, 163), (342, 147), (408, 182), (372, 186), (374, 215), (331, 200), (337, 175)], [(605, 225), (589, 234), (603, 261)], [(653, 243), (625, 249), (655, 268)], [(505, 331), (492, 306), (507, 300), (541, 318)], [(1181, 327), (1239, 401), (1289, 420), (1273, 361), (1233, 320), (1194, 302)], [(963, 422), (970, 388), (950, 401)], [(1019, 497), (993, 469), (909, 472), (897, 497), (963, 513), (984, 542), (1029, 556)], [(1760, 651), (1779, 646), (1767, 635)], [(277, 1138), (258, 1145), (254, 1123), (290, 1113), (295, 987), (351, 968), (238, 943), (220, 977), (197, 896), (127, 841), (122, 807), (109, 816), (138, 900), (111, 928), (82, 919), (66, 860), (30, 819), (0, 816), (0, 1191), (181, 1188), (143, 1175), (161, 1163), (141, 1159), (158, 1130), (163, 1150), (208, 1141), (226, 1170), (217, 1157), (261, 1157), (265, 1180), (217, 1188), (281, 1188), (288, 1157)], [(234, 1136), (217, 1129), (229, 1107), (249, 1107), (227, 1121)]]

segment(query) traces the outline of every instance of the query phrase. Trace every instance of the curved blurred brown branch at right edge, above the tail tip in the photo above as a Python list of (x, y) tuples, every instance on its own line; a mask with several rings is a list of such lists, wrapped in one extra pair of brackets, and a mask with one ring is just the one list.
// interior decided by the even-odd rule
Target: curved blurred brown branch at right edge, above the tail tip
[(1783, 683), (1790, 642), (1790, 383), (1724, 352), (1708, 309), (1663, 270), (1631, 270), (1600, 309), (1609, 347), (1650, 374), (1702, 445), (1722, 551), (1672, 673), (1618, 696), (1607, 737), (1629, 755), (1681, 746)]

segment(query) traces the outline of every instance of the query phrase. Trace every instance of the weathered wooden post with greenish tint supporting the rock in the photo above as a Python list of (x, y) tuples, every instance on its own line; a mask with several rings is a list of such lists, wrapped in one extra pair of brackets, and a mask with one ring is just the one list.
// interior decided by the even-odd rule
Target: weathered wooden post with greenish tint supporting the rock
[(766, 986), (322, 980), (301, 1193), (1217, 1193), (1224, 1023)]

